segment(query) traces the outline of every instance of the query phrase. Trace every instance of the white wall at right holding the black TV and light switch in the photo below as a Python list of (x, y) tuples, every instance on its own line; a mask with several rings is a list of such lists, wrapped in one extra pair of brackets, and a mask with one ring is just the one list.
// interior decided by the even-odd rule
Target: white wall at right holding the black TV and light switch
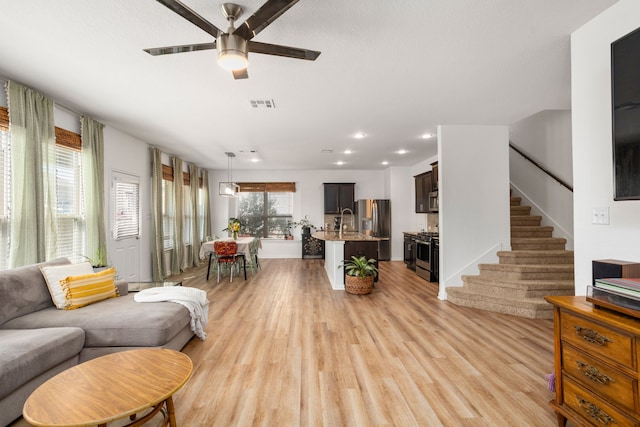
[[(611, 42), (640, 27), (640, 2), (620, 0), (571, 36), (571, 103), (576, 295), (591, 283), (591, 262), (640, 262), (640, 201), (613, 201)], [(593, 225), (608, 207), (610, 225)]]

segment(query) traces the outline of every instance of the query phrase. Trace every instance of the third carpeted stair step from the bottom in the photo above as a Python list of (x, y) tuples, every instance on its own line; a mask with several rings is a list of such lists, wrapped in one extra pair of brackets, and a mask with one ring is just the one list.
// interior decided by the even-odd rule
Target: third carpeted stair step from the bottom
[(494, 280), (573, 279), (573, 264), (478, 264), (480, 276)]

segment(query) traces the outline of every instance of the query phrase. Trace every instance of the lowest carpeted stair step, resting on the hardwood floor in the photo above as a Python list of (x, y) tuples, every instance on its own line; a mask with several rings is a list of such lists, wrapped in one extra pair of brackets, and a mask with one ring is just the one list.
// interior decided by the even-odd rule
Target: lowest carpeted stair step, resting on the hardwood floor
[(483, 295), (464, 287), (447, 288), (447, 300), (456, 305), (528, 319), (553, 319), (553, 306), (543, 298), (501, 298)]

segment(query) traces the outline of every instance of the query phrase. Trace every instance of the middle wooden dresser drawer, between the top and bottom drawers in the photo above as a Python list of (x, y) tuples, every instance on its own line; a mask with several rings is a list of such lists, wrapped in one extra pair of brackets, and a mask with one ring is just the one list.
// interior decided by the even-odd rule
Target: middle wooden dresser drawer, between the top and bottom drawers
[(638, 382), (574, 347), (562, 347), (562, 368), (578, 383), (586, 385), (600, 396), (633, 411), (636, 407)]

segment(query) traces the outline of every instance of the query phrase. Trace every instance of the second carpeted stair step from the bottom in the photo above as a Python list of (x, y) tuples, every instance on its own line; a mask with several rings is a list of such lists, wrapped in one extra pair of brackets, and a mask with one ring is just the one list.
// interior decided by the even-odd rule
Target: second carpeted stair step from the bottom
[(574, 295), (575, 281), (565, 280), (496, 280), (482, 276), (462, 276), (464, 287), (485, 295), (510, 298), (540, 298), (547, 295)]

